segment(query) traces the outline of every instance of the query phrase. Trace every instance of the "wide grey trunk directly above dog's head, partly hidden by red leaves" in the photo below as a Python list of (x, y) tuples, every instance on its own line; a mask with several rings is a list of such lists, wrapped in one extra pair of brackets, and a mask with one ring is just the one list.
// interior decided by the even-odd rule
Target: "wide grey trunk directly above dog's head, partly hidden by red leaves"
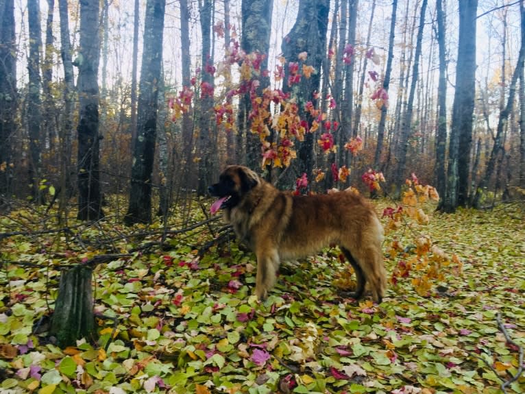
[[(243, 0), (241, 6), (241, 14), (243, 16), (243, 32), (241, 34), (241, 47), (245, 53), (258, 52), (265, 56), (260, 70), (268, 69), (268, 53), (270, 47), (270, 33), (271, 33), (271, 12), (273, 10), (273, 0)], [(262, 89), (270, 86), (269, 77), (259, 75), (260, 82), (256, 95), (262, 95)], [(247, 115), (252, 110), (252, 97), (247, 92), (241, 99), (241, 114), (243, 119), (247, 119)], [(249, 121), (248, 121), (249, 123)], [(250, 132), (251, 125), (247, 124), (246, 132), (246, 165), (257, 170), (260, 168), (260, 139), (255, 133)]]

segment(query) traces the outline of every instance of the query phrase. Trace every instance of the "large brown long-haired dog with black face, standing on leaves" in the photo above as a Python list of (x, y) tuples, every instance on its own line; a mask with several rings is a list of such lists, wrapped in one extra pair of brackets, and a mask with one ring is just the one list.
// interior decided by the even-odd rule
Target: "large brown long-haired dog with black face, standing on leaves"
[(374, 207), (363, 197), (351, 191), (292, 195), (242, 166), (228, 166), (209, 192), (221, 197), (215, 205), (221, 205), (225, 221), (257, 256), (259, 299), (265, 299), (275, 284), (280, 260), (316, 254), (337, 244), (356, 271), (357, 286), (351, 296), (361, 297), (368, 282), (374, 301), (381, 301), (387, 287), (383, 229)]

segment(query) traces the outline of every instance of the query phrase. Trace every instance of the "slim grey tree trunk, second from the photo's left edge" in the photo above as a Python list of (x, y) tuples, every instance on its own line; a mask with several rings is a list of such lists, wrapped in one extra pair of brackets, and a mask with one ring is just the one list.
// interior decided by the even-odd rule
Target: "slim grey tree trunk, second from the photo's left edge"
[(42, 49), (42, 29), (40, 27), (40, 3), (27, 0), (27, 19), (29, 20), (29, 58), (27, 71), (29, 91), (27, 94), (27, 128), (29, 134), (29, 184), (31, 197), (36, 204), (42, 204), (40, 180), (42, 179), (42, 156), (40, 138), (42, 137), (42, 97), (40, 88), (40, 49)]

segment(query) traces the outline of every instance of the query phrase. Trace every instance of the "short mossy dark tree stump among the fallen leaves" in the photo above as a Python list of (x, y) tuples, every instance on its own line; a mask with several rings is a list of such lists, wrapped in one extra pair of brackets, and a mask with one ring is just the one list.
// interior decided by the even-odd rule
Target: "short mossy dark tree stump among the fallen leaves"
[(50, 334), (57, 338), (59, 347), (75, 345), (80, 338), (94, 338), (93, 269), (77, 266), (63, 269), (60, 286), (51, 318)]

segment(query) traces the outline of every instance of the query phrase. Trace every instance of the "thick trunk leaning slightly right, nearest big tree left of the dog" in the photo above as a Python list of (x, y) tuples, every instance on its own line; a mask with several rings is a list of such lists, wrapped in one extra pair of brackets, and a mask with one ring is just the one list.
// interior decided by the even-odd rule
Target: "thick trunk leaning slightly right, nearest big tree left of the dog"
[(130, 204), (124, 218), (126, 225), (151, 222), (151, 178), (155, 157), (165, 8), (165, 0), (148, 0), (146, 3), (141, 82), (138, 88), (137, 138), (133, 150)]

